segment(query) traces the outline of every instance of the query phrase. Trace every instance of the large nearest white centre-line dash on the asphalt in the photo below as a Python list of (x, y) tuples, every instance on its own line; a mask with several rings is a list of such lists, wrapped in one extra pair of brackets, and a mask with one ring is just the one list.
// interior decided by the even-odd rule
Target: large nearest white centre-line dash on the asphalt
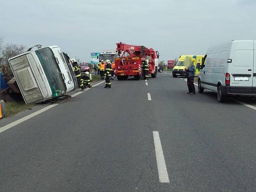
[(154, 137), (154, 144), (155, 144), (156, 164), (158, 169), (159, 182), (170, 183), (158, 131), (153, 131), (153, 137)]

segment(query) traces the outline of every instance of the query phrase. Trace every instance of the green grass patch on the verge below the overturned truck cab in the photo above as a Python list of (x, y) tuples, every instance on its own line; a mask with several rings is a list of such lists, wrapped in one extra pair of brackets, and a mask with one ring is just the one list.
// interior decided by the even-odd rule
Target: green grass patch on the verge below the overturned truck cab
[(5, 106), (5, 115), (6, 117), (13, 116), (17, 113), (27, 110), (28, 108), (32, 108), (34, 104), (26, 104), (24, 101), (11, 101), (8, 102)]

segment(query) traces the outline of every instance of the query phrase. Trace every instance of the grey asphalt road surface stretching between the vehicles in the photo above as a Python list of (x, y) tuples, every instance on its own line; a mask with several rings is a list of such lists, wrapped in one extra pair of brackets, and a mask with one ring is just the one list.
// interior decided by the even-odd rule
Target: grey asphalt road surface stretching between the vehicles
[(1, 132), (0, 191), (256, 191), (256, 110), (167, 73), (147, 83), (100, 84)]

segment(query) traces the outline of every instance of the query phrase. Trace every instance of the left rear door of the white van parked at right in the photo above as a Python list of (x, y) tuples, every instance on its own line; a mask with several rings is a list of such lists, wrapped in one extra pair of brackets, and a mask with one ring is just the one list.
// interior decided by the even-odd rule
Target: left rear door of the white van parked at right
[(252, 93), (253, 54), (253, 41), (233, 42), (227, 60), (231, 93)]

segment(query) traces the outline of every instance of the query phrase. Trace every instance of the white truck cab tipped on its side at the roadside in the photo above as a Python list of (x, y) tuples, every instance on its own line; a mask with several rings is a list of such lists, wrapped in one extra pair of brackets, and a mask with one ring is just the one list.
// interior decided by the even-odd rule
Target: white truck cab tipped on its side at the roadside
[(76, 77), (66, 57), (60, 47), (49, 46), (8, 60), (26, 103), (45, 101), (76, 89)]

